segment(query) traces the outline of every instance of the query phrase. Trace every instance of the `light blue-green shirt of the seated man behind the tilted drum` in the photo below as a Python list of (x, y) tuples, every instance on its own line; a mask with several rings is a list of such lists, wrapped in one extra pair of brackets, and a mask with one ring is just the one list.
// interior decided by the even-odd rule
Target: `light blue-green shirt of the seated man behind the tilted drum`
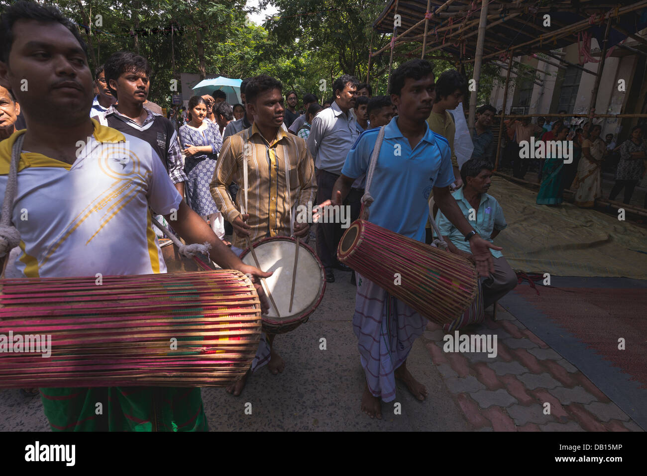
[[(483, 195), (481, 195), (479, 209), (476, 210), (476, 220), (470, 220), (470, 209), (472, 208), (472, 205), (470, 205), (470, 202), (468, 202), (463, 195), (463, 189), (465, 189), (465, 186), (452, 193), (456, 203), (461, 208), (461, 211), (463, 211), (463, 215), (465, 215), (467, 221), (470, 222), (470, 225), (472, 225), (474, 230), (479, 233), (479, 236), (492, 243), (492, 238), (490, 238), (492, 236), (492, 232), (494, 232), (494, 230), (503, 230), (508, 226), (507, 222), (505, 222), (505, 217), (503, 217), (503, 209), (501, 208), (501, 205), (499, 205), (499, 202), (497, 202), (492, 195), (483, 193)], [(443, 215), (442, 211), (438, 210), (435, 220), (439, 230), (443, 233), (443, 236), (452, 240), (452, 243), (454, 243), (456, 248), (468, 253), (472, 252), (472, 250), (470, 250), (470, 243), (465, 241), (463, 233), (459, 232), (458, 228), (456, 228), (452, 222)], [(492, 253), (492, 256), (495, 258), (503, 256), (500, 251), (496, 250), (490, 250), (490, 253)]]

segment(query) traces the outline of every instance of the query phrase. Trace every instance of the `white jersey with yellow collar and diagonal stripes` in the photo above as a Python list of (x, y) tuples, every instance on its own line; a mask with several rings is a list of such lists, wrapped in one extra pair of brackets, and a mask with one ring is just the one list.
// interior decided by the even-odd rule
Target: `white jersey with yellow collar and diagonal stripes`
[[(25, 277), (164, 273), (151, 213), (182, 197), (148, 143), (98, 124), (70, 165), (23, 151), (12, 222), (20, 232), (16, 270)], [(17, 131), (0, 142), (0, 204)]]

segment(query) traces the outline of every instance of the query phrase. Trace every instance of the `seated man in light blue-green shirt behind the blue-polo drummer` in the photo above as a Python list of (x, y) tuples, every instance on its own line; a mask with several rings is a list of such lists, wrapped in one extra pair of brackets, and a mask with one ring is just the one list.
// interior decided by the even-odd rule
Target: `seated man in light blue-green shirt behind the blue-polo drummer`
[[(503, 217), (503, 209), (492, 195), (488, 195), (492, 183), (492, 164), (483, 158), (470, 158), (461, 168), (463, 188), (452, 195), (463, 215), (467, 217), (474, 229), (490, 243), (508, 224)], [(470, 247), (467, 246), (461, 232), (438, 211), (436, 224), (443, 234), (448, 250), (457, 255), (472, 259)], [(494, 258), (494, 272), (483, 281), (483, 308), (496, 303), (517, 285), (517, 275), (500, 251), (490, 250)]]

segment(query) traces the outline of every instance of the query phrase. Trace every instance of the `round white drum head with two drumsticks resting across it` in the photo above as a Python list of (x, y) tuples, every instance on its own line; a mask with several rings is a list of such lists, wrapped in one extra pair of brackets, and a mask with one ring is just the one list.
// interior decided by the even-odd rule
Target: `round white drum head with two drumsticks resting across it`
[[(325, 290), (325, 272), (318, 257), (306, 244), (300, 243), (294, 283), (294, 301), (290, 308), (290, 292), (292, 290), (292, 270), (294, 270), (294, 254), (296, 241), (288, 237), (266, 238), (254, 245), (261, 270), (272, 271), (272, 276), (265, 278), (280, 317), (270, 302), (270, 310), (263, 314), (263, 319), (269, 318), (272, 323), (290, 323), (305, 318), (319, 304)], [(254, 257), (249, 249), (241, 255), (243, 263), (256, 266)], [(268, 299), (269, 301), (269, 299)]]

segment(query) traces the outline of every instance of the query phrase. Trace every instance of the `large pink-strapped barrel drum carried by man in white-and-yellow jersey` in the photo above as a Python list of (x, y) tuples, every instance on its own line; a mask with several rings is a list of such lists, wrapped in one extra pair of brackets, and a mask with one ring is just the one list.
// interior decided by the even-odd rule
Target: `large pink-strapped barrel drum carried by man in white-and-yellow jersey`
[[(50, 356), (8, 352), (10, 334), (50, 336)], [(0, 387), (224, 386), (260, 336), (258, 294), (236, 270), (0, 280)]]

